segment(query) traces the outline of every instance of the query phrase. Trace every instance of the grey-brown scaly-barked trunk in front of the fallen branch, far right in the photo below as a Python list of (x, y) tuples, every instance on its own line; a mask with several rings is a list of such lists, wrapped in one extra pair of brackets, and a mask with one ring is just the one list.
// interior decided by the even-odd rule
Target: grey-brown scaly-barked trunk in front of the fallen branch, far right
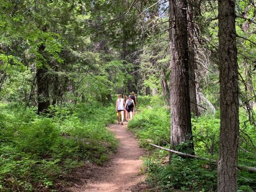
[(237, 191), (239, 140), (235, 2), (219, 0), (220, 154), (218, 192)]

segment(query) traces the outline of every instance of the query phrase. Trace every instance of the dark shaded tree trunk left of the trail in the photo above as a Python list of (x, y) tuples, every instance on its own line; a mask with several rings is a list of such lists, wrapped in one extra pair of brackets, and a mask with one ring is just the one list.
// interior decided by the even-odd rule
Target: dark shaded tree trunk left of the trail
[[(39, 47), (39, 51), (44, 51), (45, 47), (42, 44)], [(45, 65), (37, 68), (36, 71), (36, 84), (37, 84), (37, 113), (47, 113), (47, 109), (50, 106), (49, 97), (49, 75), (48, 69)]]

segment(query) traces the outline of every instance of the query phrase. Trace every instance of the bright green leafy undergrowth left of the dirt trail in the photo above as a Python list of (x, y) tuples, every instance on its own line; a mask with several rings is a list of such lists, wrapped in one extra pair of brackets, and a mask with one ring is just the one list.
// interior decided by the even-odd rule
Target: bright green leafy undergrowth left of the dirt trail
[(0, 111), (0, 191), (54, 191), (55, 179), (85, 161), (101, 164), (117, 148), (106, 129), (114, 108), (52, 108), (50, 117), (4, 105)]

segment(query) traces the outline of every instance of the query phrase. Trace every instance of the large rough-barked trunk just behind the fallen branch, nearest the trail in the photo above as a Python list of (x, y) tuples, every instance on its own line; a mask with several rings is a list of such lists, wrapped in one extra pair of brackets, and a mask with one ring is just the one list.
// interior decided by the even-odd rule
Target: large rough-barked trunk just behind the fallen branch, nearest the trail
[(189, 142), (186, 150), (194, 151), (188, 67), (188, 30), (186, 0), (170, 0), (170, 106), (171, 149), (182, 142)]

